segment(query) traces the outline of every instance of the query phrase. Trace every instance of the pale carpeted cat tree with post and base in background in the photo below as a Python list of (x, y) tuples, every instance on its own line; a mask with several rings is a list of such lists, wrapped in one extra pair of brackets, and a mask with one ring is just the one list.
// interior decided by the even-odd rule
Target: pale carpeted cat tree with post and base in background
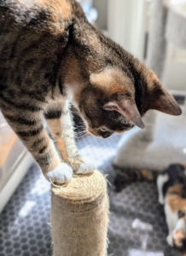
[[(147, 66), (156, 73), (159, 79), (163, 77), (166, 38), (177, 38), (175, 40), (181, 41), (180, 45), (184, 43), (186, 49), (186, 17), (183, 20), (183, 17), (179, 18), (176, 14), (168, 15), (169, 22), (166, 27), (167, 13), (168, 9), (162, 0), (151, 2)], [(171, 26), (169, 29), (169, 24), (172, 23), (183, 24), (183, 26), (179, 30), (177, 26)], [(180, 35), (177, 34), (179, 32)], [(182, 116), (178, 117), (176, 122), (173, 119), (174, 117), (164, 113), (148, 111), (144, 117), (145, 129), (142, 131), (136, 128), (121, 138), (118, 153), (113, 160), (114, 166), (120, 169), (162, 171), (172, 162), (185, 162), (184, 120)]]

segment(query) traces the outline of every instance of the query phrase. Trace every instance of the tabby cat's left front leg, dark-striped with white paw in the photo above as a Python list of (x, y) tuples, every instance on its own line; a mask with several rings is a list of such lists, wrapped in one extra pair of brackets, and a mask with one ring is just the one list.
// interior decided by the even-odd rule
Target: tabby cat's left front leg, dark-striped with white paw
[(73, 169), (63, 162), (49, 138), (40, 112), (24, 109), (2, 109), (5, 119), (20, 137), (26, 148), (41, 167), (44, 176), (52, 183), (66, 183), (73, 176)]

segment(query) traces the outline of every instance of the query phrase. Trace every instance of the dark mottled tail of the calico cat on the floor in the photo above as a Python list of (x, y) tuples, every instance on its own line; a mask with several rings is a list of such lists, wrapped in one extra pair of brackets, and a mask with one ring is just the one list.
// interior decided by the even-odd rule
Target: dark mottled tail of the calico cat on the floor
[(131, 183), (138, 181), (155, 182), (160, 174), (158, 171), (140, 170), (137, 168), (124, 168), (120, 169), (115, 167), (116, 177), (114, 179), (114, 186), (116, 191), (121, 191)]

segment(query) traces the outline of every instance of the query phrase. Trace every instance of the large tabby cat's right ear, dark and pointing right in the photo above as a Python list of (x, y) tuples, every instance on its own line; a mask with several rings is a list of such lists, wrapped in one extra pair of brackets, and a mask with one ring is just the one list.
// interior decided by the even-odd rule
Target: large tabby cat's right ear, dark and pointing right
[(154, 90), (150, 92), (150, 96), (148, 97), (148, 109), (156, 109), (171, 115), (180, 115), (182, 113), (181, 108), (173, 96), (171, 96), (161, 84), (155, 84)]

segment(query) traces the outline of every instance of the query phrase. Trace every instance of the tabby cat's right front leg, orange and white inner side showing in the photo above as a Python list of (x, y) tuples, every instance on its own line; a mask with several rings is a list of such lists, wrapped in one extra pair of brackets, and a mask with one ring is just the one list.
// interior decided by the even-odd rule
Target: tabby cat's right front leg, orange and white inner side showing
[(44, 117), (61, 153), (62, 159), (78, 174), (93, 172), (95, 170), (94, 164), (78, 154), (68, 102), (65, 105), (60, 103), (50, 105), (44, 113)]

